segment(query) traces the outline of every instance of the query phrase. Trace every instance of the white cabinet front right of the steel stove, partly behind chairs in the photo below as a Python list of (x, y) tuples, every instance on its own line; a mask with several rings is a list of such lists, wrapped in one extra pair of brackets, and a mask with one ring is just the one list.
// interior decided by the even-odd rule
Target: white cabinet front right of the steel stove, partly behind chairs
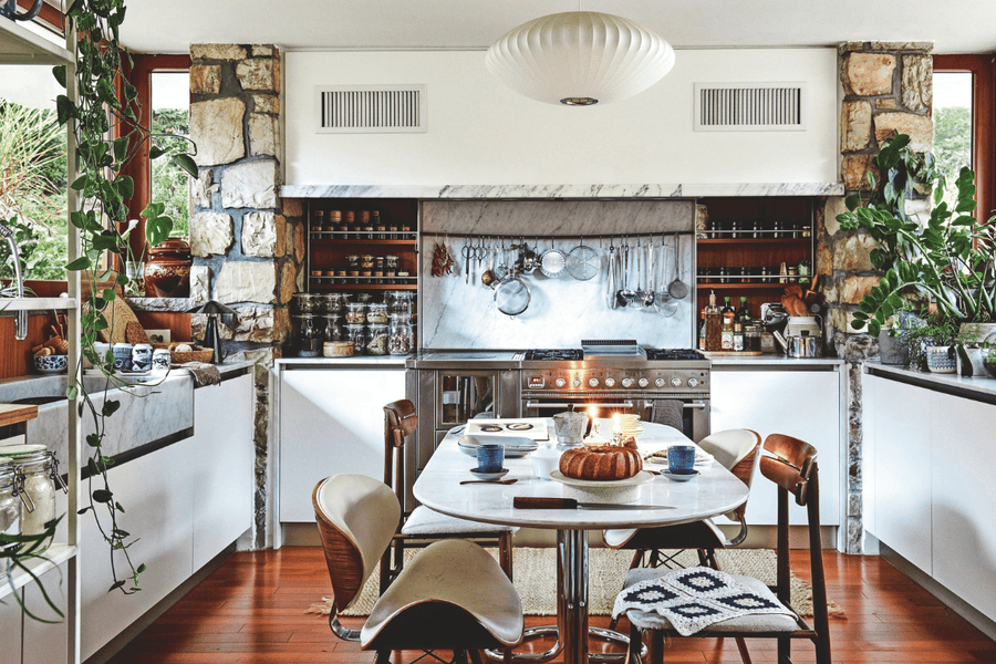
[[(839, 526), (840, 381), (837, 371), (713, 371), (710, 430), (749, 428), (766, 438), (786, 434), (819, 452), (820, 521)], [(806, 523), (806, 510), (791, 505), (791, 521)], [(760, 471), (747, 504), (747, 523), (778, 522), (778, 492)]]

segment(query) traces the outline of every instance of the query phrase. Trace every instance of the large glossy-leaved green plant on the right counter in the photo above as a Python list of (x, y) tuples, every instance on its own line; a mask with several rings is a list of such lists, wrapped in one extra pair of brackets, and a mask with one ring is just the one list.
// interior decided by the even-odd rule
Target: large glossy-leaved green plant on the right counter
[[(851, 326), (867, 326), (878, 335), (885, 319), (903, 309), (904, 297), (912, 292), (934, 301), (942, 319), (996, 320), (996, 230), (992, 224), (977, 225), (973, 216), (975, 174), (962, 168), (952, 209), (942, 200), (945, 181), (933, 156), (909, 146), (910, 137), (902, 134), (886, 141), (874, 159), (883, 178), (881, 191), (864, 205), (861, 195), (848, 197), (848, 211), (837, 217), (841, 228), (864, 229), (878, 242), (870, 259), (884, 272), (879, 286), (859, 303)], [(876, 189), (871, 173), (868, 181)], [(917, 189), (933, 189), (925, 222), (905, 210)]]

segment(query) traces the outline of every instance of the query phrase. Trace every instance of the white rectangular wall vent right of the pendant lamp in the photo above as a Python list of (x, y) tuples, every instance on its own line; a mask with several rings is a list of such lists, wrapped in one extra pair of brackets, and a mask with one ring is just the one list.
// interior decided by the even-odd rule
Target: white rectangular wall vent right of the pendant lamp
[(696, 83), (696, 132), (801, 132), (806, 83)]

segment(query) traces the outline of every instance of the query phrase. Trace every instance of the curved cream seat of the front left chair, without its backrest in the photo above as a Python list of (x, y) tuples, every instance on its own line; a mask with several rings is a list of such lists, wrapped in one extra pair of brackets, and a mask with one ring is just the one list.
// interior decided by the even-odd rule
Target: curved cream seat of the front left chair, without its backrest
[[(438, 603), (463, 609), (504, 645), (522, 639), (522, 603), (497, 561), (473, 542), (449, 539), (426, 547), (381, 595), (361, 631), (362, 647), (402, 612), (418, 611), (421, 604), (432, 612)], [(454, 629), (425, 618), (426, 629), (444, 635)]]

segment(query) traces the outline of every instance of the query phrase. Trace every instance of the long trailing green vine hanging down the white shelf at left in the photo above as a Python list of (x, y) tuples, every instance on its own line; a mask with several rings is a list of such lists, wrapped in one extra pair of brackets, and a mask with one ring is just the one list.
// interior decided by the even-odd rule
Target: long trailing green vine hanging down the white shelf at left
[[(102, 382), (103, 403), (98, 406), (82, 381), (68, 387), (72, 400), (79, 394), (82, 408), (93, 422), (93, 433), (86, 436), (89, 458), (87, 494), (80, 513), (90, 512), (111, 549), (111, 571), (114, 579), (110, 590), (129, 594), (138, 591), (138, 577), (144, 564), (135, 564), (128, 548), (136, 537), (121, 528), (118, 516), (124, 507), (114, 496), (107, 478), (107, 469), (114, 460), (104, 454), (105, 419), (121, 406), (121, 402), (107, 397), (111, 386), (124, 383), (114, 370), (114, 356), (110, 351), (97, 354), (94, 343), (97, 334), (113, 324), (102, 310), (116, 297), (114, 288), (101, 289), (100, 273), (104, 257), (110, 252), (121, 259), (118, 264), (134, 257), (128, 256), (128, 236), (137, 224), (128, 220), (127, 203), (135, 193), (135, 183), (124, 175), (127, 164), (142, 151), (149, 157), (168, 158), (188, 174), (196, 176), (197, 166), (190, 154), (176, 147), (174, 134), (156, 135), (138, 122), (138, 91), (124, 75), (124, 63), (131, 56), (120, 45), (120, 29), (125, 18), (124, 0), (72, 0), (66, 8), (66, 30), (76, 34), (76, 63), (74, 80), (68, 81), (65, 66), (53, 70), (59, 83), (75, 89), (75, 100), (69, 94), (59, 95), (56, 112), (59, 122), (68, 124), (75, 137), (76, 170), (71, 189), (79, 193), (81, 209), (69, 211), (70, 222), (80, 231), (82, 251), (66, 266), (66, 270), (83, 271), (90, 281), (90, 295), (82, 313), (82, 353), (106, 377)], [(159, 145), (160, 139), (164, 145)], [(168, 145), (168, 147), (166, 147)], [(187, 147), (193, 151), (193, 143)], [(163, 214), (164, 205), (151, 203), (143, 210), (145, 235), (155, 246), (169, 237), (173, 219)], [(127, 286), (128, 277), (117, 274), (117, 286)], [(77, 374), (79, 375), (79, 374)], [(123, 562), (123, 569), (118, 567)]]

